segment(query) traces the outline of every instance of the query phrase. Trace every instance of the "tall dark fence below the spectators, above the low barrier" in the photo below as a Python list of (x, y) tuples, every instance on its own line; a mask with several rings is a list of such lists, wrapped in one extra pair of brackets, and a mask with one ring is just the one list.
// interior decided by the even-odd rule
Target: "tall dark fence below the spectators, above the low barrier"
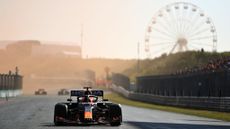
[(137, 92), (159, 96), (230, 97), (230, 71), (137, 77)]

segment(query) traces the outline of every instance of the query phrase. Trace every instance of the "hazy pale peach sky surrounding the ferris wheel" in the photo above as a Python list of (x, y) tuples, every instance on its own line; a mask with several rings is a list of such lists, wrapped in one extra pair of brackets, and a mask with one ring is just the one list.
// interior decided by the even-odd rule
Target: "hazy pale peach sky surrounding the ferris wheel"
[[(80, 44), (86, 57), (136, 58), (146, 27), (160, 8), (178, 0), (0, 0), (0, 40)], [(210, 16), (218, 51), (230, 50), (230, 0), (186, 0)], [(140, 56), (145, 57), (143, 45)]]

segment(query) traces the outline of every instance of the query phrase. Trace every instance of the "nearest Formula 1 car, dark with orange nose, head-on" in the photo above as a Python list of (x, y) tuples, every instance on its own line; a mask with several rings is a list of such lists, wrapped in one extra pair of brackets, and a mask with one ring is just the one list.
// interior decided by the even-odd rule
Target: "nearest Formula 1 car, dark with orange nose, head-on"
[[(74, 99), (75, 98), (75, 99)], [(71, 90), (69, 102), (57, 103), (54, 108), (54, 124), (110, 124), (119, 126), (122, 122), (120, 104), (103, 98), (102, 90)]]

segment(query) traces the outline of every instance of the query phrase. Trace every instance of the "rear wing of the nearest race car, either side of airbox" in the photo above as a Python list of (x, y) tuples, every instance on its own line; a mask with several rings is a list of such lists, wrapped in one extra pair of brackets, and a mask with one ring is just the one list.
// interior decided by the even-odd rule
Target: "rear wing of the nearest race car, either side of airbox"
[[(104, 96), (103, 90), (90, 90), (90, 92), (91, 92), (90, 95), (95, 95), (99, 97)], [(86, 90), (71, 90), (70, 96), (80, 97), (80, 96), (84, 96), (85, 93), (86, 93)]]

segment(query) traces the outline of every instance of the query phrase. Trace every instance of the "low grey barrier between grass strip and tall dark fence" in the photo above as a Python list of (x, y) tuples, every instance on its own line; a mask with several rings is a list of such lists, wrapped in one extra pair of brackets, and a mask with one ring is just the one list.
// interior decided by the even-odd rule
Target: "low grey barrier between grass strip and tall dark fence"
[(123, 87), (114, 84), (111, 86), (111, 89), (128, 99), (137, 101), (168, 106), (230, 112), (230, 97), (159, 96), (130, 92)]

